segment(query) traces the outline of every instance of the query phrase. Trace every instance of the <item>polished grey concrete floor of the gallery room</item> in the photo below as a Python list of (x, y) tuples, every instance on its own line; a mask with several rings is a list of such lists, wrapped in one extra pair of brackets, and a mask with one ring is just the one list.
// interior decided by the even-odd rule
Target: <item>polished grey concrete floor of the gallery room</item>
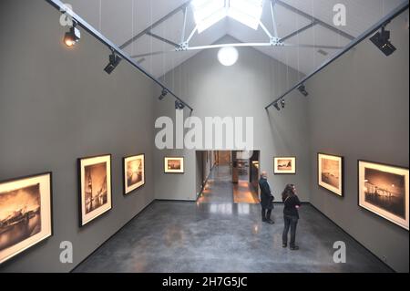
[[(300, 211), (301, 249), (291, 251), (282, 248), (282, 205), (271, 225), (261, 223), (260, 205), (211, 195), (202, 203), (152, 203), (75, 272), (390, 272), (310, 205)], [(347, 246), (345, 264), (333, 263), (336, 241)]]

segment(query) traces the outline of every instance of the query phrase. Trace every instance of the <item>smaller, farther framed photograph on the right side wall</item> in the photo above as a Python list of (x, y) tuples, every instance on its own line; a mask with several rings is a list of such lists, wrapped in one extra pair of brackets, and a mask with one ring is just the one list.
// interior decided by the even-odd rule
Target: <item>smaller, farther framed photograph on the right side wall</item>
[(343, 157), (318, 153), (317, 171), (319, 186), (343, 197)]

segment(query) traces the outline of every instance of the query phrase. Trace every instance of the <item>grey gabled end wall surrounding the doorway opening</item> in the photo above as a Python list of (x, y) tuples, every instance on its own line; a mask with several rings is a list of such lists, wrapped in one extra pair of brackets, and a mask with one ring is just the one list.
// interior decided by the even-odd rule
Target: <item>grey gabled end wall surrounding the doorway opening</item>
[[(220, 43), (236, 42), (231, 36)], [(180, 96), (189, 97), (194, 108), (192, 116), (205, 124), (206, 117), (253, 117), (254, 150), (261, 151), (261, 169), (269, 172), (272, 190), (279, 200), (288, 182), (300, 189), (309, 188), (309, 146), (307, 99), (298, 92), (286, 104), (287, 109), (268, 112), (264, 107), (303, 75), (284, 64), (267, 57), (253, 48), (240, 48), (240, 58), (232, 67), (223, 67), (218, 61), (218, 50), (206, 50), (170, 71), (162, 79)], [(159, 95), (159, 92), (157, 93)], [(156, 101), (156, 117), (175, 119), (173, 99)], [(190, 110), (184, 110), (185, 118)], [(234, 149), (229, 149), (234, 150)], [(163, 173), (163, 156), (185, 156), (186, 173)], [(297, 156), (296, 175), (273, 175), (274, 156)], [(156, 198), (195, 200), (195, 151), (155, 150), (154, 169)], [(309, 201), (309, 193), (301, 191), (302, 201)]]

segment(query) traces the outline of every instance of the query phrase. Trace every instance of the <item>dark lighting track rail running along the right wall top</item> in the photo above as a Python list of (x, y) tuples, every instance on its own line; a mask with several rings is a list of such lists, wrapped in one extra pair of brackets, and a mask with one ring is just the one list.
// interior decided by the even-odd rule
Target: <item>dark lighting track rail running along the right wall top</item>
[(308, 75), (305, 78), (302, 78), (302, 80), (297, 83), (295, 86), (293, 86), (292, 88), (290, 88), (289, 90), (287, 90), (284, 94), (282, 94), (281, 97), (274, 99), (272, 101), (272, 103), (270, 103), (268, 106), (265, 107), (265, 109), (269, 109), (270, 107), (274, 106), (275, 104), (279, 104), (279, 102), (284, 99), (289, 93), (291, 93), (294, 89), (299, 88), (300, 86), (302, 86), (304, 83), (306, 83), (306, 81), (310, 78), (312, 78), (314, 75), (316, 75), (317, 73), (319, 73), (320, 71), (323, 70), (323, 68), (326, 68), (327, 66), (329, 66), (330, 64), (332, 64), (336, 59), (338, 59), (339, 57), (342, 57), (345, 53), (347, 53), (348, 51), (350, 51), (352, 48), (354, 48), (355, 46), (357, 46), (359, 43), (361, 43), (362, 41), (364, 41), (364, 39), (366, 39), (369, 36), (372, 36), (377, 30), (379, 30), (381, 27), (386, 26), (390, 21), (392, 21), (392, 19), (394, 19), (396, 16), (401, 15), (402, 13), (405, 12), (405, 10), (408, 9), (409, 6), (409, 2), (406, 1), (405, 3), (403, 3), (402, 5), (399, 5), (397, 8), (395, 8), (395, 10), (393, 10), (391, 13), (389, 13), (387, 16), (384, 16), (379, 22), (377, 22), (374, 26), (370, 27), (369, 29), (367, 29), (362, 35), (356, 37), (349, 45), (347, 45), (346, 47), (343, 48), (342, 51), (340, 51), (337, 55), (335, 55), (333, 58), (327, 60), (326, 62), (324, 62), (324, 64), (315, 69), (313, 71), (313, 73), (311, 73), (310, 75)]

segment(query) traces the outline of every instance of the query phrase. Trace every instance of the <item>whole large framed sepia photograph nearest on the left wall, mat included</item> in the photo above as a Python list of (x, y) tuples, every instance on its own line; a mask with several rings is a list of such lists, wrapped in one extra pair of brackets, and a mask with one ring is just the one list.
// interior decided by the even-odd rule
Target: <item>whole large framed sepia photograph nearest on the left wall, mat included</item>
[(0, 182), (0, 264), (53, 233), (51, 172)]

